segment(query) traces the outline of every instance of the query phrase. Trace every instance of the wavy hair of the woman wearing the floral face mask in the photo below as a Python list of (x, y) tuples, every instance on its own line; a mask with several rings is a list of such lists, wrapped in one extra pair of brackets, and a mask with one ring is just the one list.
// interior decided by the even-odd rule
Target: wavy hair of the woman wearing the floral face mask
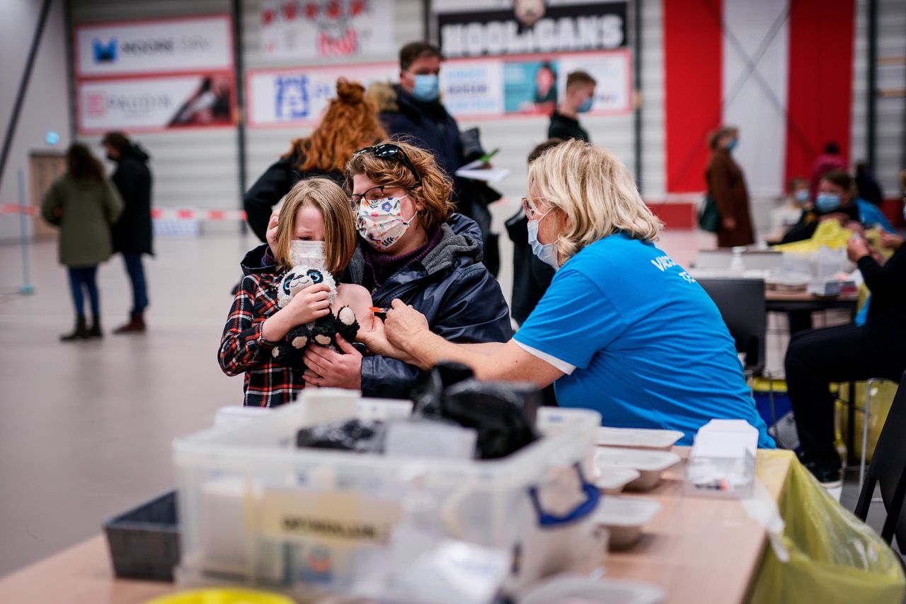
[(450, 197), (453, 195), (453, 181), (443, 169), (438, 167), (434, 156), (425, 149), (416, 147), (406, 139), (393, 137), (381, 140), (378, 145), (391, 143), (398, 146), (409, 157), (415, 171), (418, 172), (421, 184), (416, 185), (416, 178), (404, 163), (396, 159), (376, 158), (371, 153), (353, 155), (346, 164), (346, 188), (352, 192), (352, 177), (364, 174), (381, 187), (402, 187), (409, 191), (410, 199), (423, 206), (419, 210), (419, 224), (427, 232), (447, 222), (453, 214), (454, 207)]

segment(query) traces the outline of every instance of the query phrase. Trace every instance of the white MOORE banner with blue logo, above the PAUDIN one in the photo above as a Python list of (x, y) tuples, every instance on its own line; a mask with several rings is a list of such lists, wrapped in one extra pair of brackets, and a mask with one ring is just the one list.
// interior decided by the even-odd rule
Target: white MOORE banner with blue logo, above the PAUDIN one
[(73, 35), (78, 78), (233, 69), (228, 15), (80, 25)]

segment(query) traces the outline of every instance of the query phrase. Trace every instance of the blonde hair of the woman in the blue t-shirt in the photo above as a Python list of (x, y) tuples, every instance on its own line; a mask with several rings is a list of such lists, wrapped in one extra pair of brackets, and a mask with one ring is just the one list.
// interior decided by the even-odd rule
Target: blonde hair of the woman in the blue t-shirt
[(573, 139), (548, 149), (528, 168), (528, 188), (567, 219), (557, 237), (563, 264), (615, 233), (655, 242), (660, 220), (641, 200), (629, 170), (610, 151)]

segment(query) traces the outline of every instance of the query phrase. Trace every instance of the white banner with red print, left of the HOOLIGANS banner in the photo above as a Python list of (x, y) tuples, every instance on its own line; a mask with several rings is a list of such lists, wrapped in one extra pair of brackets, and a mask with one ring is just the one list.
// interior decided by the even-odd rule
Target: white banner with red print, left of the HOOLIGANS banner
[(394, 54), (393, 0), (284, 0), (261, 5), (261, 53), (279, 59)]

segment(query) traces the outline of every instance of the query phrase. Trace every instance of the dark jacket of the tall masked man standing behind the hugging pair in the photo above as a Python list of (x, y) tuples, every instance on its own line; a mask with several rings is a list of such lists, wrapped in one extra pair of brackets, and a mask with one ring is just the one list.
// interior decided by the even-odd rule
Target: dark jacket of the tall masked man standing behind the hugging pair
[[(419, 102), (394, 84), (396, 107), (381, 110), (381, 122), (390, 134), (408, 135), (423, 149), (434, 153), (438, 165), (452, 177), (463, 165), (459, 127), (439, 102)], [(392, 103), (390, 103), (392, 106)]]

